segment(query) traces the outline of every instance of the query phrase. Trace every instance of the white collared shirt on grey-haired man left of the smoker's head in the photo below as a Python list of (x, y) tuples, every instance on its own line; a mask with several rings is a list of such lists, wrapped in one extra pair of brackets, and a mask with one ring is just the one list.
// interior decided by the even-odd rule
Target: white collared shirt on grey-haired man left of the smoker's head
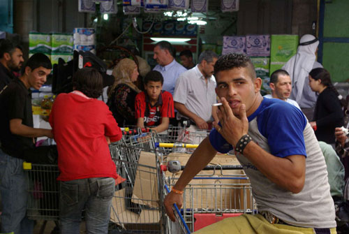
[(212, 120), (212, 104), (216, 103), (216, 80), (202, 75), (198, 65), (179, 75), (173, 100), (182, 103), (206, 122)]

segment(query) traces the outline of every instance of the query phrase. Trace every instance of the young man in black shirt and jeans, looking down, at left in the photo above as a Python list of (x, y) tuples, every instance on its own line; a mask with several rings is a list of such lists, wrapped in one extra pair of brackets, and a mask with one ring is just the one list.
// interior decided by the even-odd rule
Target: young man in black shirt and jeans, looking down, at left
[(0, 91), (1, 233), (33, 233), (34, 222), (26, 217), (28, 192), (22, 166), (24, 152), (34, 149), (34, 138), (52, 138), (52, 131), (34, 129), (30, 88), (40, 89), (51, 68), (51, 61), (45, 54), (34, 54), (20, 78), (14, 78)]

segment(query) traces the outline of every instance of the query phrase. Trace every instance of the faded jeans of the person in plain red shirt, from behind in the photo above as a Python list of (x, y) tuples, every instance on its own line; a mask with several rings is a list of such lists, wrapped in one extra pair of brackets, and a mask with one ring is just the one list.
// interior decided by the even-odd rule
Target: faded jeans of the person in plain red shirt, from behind
[(80, 233), (82, 210), (85, 210), (87, 233), (107, 233), (112, 197), (115, 191), (114, 178), (70, 180), (61, 182), (60, 186), (61, 233)]

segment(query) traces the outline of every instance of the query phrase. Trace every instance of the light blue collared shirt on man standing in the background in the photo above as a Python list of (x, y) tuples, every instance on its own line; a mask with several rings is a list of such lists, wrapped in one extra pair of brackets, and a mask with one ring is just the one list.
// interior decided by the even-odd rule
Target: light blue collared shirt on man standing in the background
[(173, 61), (166, 66), (156, 65), (153, 71), (158, 71), (163, 75), (163, 90), (170, 92), (173, 96), (176, 80), (181, 73), (186, 71), (186, 68), (173, 59)]

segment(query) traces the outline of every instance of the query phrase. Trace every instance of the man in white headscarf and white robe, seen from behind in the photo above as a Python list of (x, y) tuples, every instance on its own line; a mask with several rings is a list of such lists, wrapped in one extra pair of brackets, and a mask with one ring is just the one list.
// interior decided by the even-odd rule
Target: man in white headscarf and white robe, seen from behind
[[(299, 41), (300, 44), (315, 40), (315, 36), (305, 34)], [(297, 101), (301, 108), (313, 108), (317, 96), (309, 87), (309, 72), (314, 68), (315, 52), (318, 48), (319, 41), (309, 45), (299, 45), (297, 54), (294, 55), (283, 66), (288, 71), (292, 80), (292, 93), (290, 98)]]

